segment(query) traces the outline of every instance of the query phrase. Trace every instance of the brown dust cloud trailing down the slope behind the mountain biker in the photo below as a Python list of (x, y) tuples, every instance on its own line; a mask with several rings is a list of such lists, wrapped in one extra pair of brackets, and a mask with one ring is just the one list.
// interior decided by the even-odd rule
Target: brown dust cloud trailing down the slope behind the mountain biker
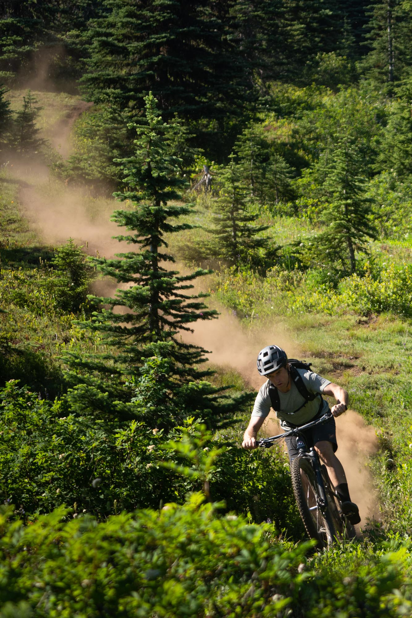
[[(59, 146), (64, 156), (70, 152), (72, 125), (88, 105), (80, 102), (72, 107), (54, 129), (52, 143), (55, 147)], [(80, 244), (88, 243), (89, 253), (98, 251), (106, 257), (128, 250), (126, 243), (122, 246), (111, 239), (111, 236), (119, 234), (119, 227), (109, 221), (111, 211), (116, 208), (114, 200), (106, 200), (105, 208), (99, 205), (98, 210), (91, 212), (90, 199), (85, 200), (84, 190), (53, 184), (46, 166), (15, 164), (11, 171), (22, 185), (20, 203), (24, 214), (46, 242), (64, 243), (71, 237)], [(179, 265), (176, 266), (179, 268)], [(181, 268), (181, 271), (184, 270)], [(197, 281), (194, 291), (207, 290), (207, 287), (207, 277), (203, 277)], [(97, 293), (113, 295), (115, 289), (111, 282), (100, 282)], [(255, 369), (255, 358), (265, 345), (276, 343), (284, 347), (290, 357), (301, 357), (301, 350), (290, 332), (283, 326), (277, 326), (276, 320), (270, 328), (242, 328), (236, 315), (221, 307), (213, 297), (208, 299), (207, 304), (220, 311), (219, 319), (194, 324), (194, 333), (184, 334), (184, 341), (210, 350), (210, 362), (239, 371), (249, 386), (259, 389), (263, 383)], [(273, 415), (268, 417), (264, 429), (267, 434), (278, 433)], [(338, 456), (348, 476), (352, 499), (359, 504), (362, 523), (365, 523), (367, 517), (378, 514), (377, 497), (367, 467), (367, 457), (376, 451), (377, 438), (374, 429), (366, 426), (362, 417), (353, 410), (338, 418), (337, 436), (340, 445)]]

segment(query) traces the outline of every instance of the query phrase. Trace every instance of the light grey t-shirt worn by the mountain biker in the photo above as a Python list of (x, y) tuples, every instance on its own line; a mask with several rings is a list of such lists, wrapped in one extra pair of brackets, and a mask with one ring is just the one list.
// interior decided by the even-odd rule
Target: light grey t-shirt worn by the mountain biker
[[(324, 392), (325, 387), (330, 384), (330, 380), (322, 378), (317, 373), (314, 373), (314, 371), (306, 369), (297, 369), (296, 371), (298, 371), (303, 378), (304, 384), (309, 392), (320, 394)], [(267, 380), (265, 384), (262, 384), (260, 387), (255, 399), (252, 417), (266, 418), (270, 412), (272, 404), (269, 396), (269, 384), (270, 382)], [(304, 403), (305, 399), (301, 396), (296, 384), (294, 384), (293, 381), (290, 391), (278, 391), (278, 394), (280, 410), (275, 410), (275, 412), (277, 418), (280, 420), (280, 425), (282, 428), (288, 428), (288, 422), (293, 425), (304, 425), (305, 423), (309, 423), (309, 421), (315, 417), (319, 410), (320, 397), (315, 397), (312, 401), (308, 401), (300, 408), (300, 410), (298, 410), (298, 408)], [(326, 412), (327, 409), (328, 403), (327, 401), (324, 401), (322, 412)], [(294, 412), (294, 410), (297, 410), (297, 412)]]

